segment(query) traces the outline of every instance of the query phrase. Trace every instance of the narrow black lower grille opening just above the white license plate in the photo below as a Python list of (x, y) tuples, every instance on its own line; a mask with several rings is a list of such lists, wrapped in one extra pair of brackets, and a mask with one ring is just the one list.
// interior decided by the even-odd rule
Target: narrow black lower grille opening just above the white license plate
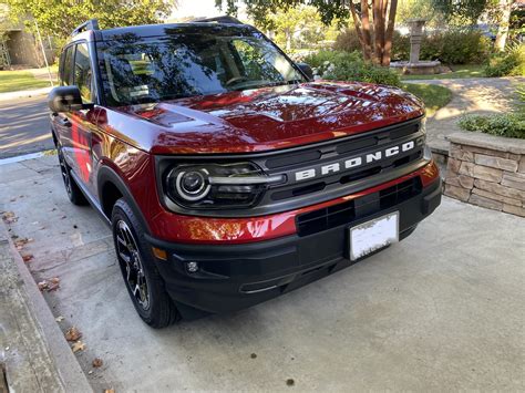
[(419, 195), (421, 190), (421, 179), (418, 176), (360, 198), (305, 213), (296, 218), (297, 232), (302, 237), (351, 224), (356, 219), (401, 204)]

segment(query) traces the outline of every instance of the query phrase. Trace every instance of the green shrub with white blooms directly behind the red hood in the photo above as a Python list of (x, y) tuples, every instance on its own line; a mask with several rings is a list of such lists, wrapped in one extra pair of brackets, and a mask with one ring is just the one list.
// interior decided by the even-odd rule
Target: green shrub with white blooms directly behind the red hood
[(315, 74), (326, 80), (361, 81), (400, 86), (399, 74), (361, 60), (359, 52), (319, 51), (305, 58)]

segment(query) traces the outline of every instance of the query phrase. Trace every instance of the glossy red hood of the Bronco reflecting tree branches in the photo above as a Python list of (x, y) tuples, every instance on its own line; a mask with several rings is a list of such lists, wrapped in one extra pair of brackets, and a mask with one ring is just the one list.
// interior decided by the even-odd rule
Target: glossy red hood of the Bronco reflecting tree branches
[(424, 114), (422, 103), (400, 89), (334, 82), (194, 96), (117, 111), (147, 123), (151, 139), (145, 139), (143, 130), (137, 137), (154, 154), (286, 148)]

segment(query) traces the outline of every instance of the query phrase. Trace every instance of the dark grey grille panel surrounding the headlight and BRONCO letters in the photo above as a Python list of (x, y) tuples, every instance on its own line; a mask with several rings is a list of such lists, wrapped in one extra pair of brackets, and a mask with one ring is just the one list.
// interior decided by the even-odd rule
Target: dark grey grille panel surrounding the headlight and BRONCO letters
[[(157, 190), (163, 205), (168, 210), (203, 217), (258, 217), (319, 204), (381, 185), (428, 165), (431, 157), (423, 153), (425, 132), (420, 127), (422, 120), (423, 117), (416, 117), (383, 128), (275, 151), (240, 154), (157, 155), (155, 156)], [(296, 172), (309, 168), (316, 168), (317, 172), (327, 164), (344, 163), (348, 158), (358, 155), (362, 157), (363, 154), (379, 151), (384, 153), (385, 148), (394, 145), (402, 146), (409, 141), (415, 141), (415, 148), (395, 156), (388, 158), (383, 156), (381, 161), (373, 161), (350, 169), (341, 167), (341, 170), (328, 175), (319, 173), (319, 176), (315, 178), (299, 182), (296, 179)], [(286, 180), (282, 184), (269, 186), (257, 205), (248, 209), (182, 208), (165, 197), (159, 179), (165, 170), (173, 165), (194, 163), (203, 165), (207, 162), (227, 164), (241, 161), (256, 164), (269, 176), (281, 175)]]

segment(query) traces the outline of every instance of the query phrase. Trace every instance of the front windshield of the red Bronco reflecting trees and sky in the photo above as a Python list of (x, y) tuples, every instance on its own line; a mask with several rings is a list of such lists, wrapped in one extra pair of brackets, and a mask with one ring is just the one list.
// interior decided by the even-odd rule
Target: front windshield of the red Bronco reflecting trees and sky
[(303, 82), (260, 33), (177, 33), (99, 46), (110, 106)]

